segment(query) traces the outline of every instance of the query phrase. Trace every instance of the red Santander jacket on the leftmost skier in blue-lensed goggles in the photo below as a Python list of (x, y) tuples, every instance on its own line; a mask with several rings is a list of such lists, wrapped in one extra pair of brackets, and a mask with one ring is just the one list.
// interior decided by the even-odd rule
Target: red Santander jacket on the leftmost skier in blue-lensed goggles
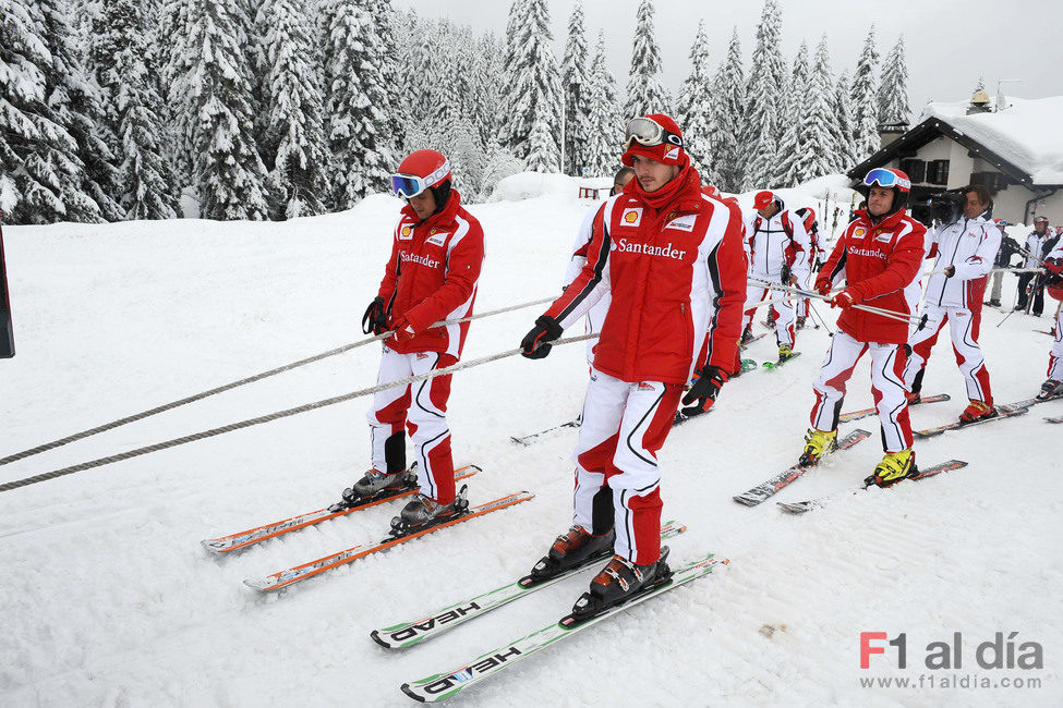
[(395, 242), (380, 290), (394, 326), (404, 317), (415, 335), (385, 343), (400, 354), (439, 352), (458, 359), (469, 322), (432, 327), (444, 319), (472, 315), (476, 281), (483, 264), (483, 229), (450, 191), (446, 207), (424, 221), (407, 205), (395, 227)]

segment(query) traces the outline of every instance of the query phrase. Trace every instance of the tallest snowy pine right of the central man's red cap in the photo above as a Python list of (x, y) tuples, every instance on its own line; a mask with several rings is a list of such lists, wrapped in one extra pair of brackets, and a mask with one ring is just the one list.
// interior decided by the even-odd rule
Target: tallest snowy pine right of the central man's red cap
[(780, 93), (786, 85), (780, 51), (781, 27), (782, 15), (776, 0), (764, 0), (746, 91), (747, 190), (773, 186), (780, 178), (780, 111), (783, 108)]

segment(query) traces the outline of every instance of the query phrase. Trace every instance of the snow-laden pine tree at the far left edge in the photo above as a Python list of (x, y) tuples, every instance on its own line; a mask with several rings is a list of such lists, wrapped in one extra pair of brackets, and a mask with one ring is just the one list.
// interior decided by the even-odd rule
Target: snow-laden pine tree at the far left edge
[(99, 209), (82, 191), (77, 145), (47, 114), (52, 58), (45, 27), (22, 0), (0, 0), (0, 195), (9, 223), (51, 223)]

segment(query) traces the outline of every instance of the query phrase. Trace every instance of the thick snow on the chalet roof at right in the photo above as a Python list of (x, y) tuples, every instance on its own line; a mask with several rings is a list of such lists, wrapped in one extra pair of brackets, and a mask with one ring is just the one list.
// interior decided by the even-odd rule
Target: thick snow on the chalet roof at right
[(968, 101), (928, 103), (920, 122), (935, 118), (1026, 172), (1035, 185), (1063, 184), (1063, 96), (1006, 97), (995, 113), (967, 115)]

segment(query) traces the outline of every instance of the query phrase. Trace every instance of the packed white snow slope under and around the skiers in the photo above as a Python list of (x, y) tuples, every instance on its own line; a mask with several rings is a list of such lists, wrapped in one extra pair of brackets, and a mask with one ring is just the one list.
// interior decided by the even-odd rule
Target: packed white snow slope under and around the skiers
[[(471, 207), (487, 257), (480, 312), (559, 292), (589, 204), (575, 195)], [(0, 362), (0, 456), (362, 338), (399, 203), (287, 223), (183, 220), (8, 228), (17, 356)], [(1006, 278), (1005, 297), (1015, 294)], [(1054, 301), (1050, 301), (1054, 312)], [(823, 306), (819, 312), (833, 320)], [(515, 349), (541, 308), (474, 322), (466, 358)], [(761, 310), (762, 312), (762, 310)], [(758, 316), (758, 319), (762, 317)], [(1032, 395), (1046, 369), (1047, 317), (985, 313), (982, 345), (999, 402)], [(760, 327), (760, 325), (758, 325)], [(577, 330), (570, 333), (581, 333)], [(943, 337), (947, 340), (947, 335)], [(728, 382), (715, 410), (676, 428), (660, 456), (666, 518), (689, 530), (676, 562), (713, 550), (712, 576), (611, 619), (469, 692), (469, 706), (1063, 704), (1059, 468), (1063, 402), (919, 441), (931, 465), (970, 465), (889, 490), (845, 493), (881, 456), (878, 435), (777, 496), (841, 493), (805, 516), (732, 496), (798, 456), (810, 384), (830, 339), (806, 329), (804, 356)], [(0, 467), (28, 477), (375, 383), (366, 346)], [(747, 356), (774, 356), (771, 337)], [(282, 594), (241, 581), (385, 534), (384, 504), (215, 559), (204, 538), (318, 509), (366, 467), (366, 400), (0, 493), (0, 705), (407, 705), (399, 685), (449, 671), (565, 614), (590, 573), (447, 636), (388, 652), (371, 630), (510, 582), (570, 521), (576, 431), (532, 447), (520, 436), (572, 418), (587, 382), (582, 345), (544, 361), (503, 359), (458, 375), (449, 420), (457, 463), (484, 472), (473, 502), (536, 498), (336, 570)], [(966, 401), (946, 341), (916, 427)], [(868, 361), (845, 410), (871, 404)], [(877, 431), (873, 418), (843, 425)], [(860, 669), (860, 633), (907, 637)], [(962, 633), (962, 666), (928, 670), (927, 645)], [(1041, 669), (980, 669), (978, 644), (1017, 633)], [(884, 646), (884, 642), (874, 642)], [(1005, 647), (1006, 649), (1006, 647)], [(910, 687), (861, 687), (861, 679)], [(923, 687), (918, 687), (920, 678)], [(943, 678), (1023, 688), (942, 688)], [(930, 679), (935, 679), (934, 687)]]

